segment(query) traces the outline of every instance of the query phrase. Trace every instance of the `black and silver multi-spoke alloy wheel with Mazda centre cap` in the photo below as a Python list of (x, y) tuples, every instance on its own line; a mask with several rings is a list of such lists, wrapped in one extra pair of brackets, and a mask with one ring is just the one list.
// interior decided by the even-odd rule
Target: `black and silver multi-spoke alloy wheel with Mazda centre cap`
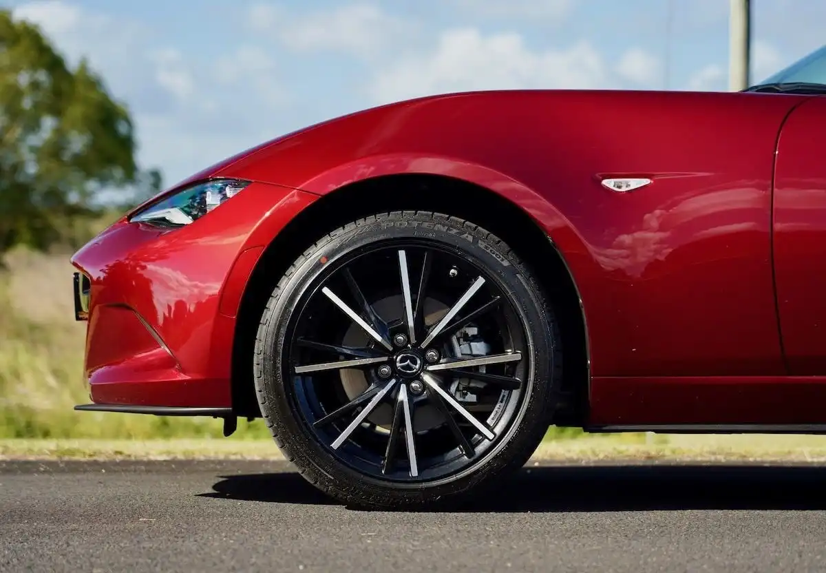
[(529, 372), (507, 289), (449, 246), (383, 241), (325, 260), (285, 345), (288, 394), (335, 458), (382, 480), (439, 480), (514, 425)]

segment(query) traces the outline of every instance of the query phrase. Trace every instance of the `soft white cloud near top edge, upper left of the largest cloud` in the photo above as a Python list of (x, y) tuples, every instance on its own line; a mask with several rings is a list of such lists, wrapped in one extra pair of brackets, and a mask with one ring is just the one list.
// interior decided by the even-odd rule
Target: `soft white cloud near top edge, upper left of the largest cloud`
[(410, 29), (401, 18), (361, 3), (301, 15), (271, 4), (254, 4), (249, 8), (249, 26), (274, 31), (292, 50), (339, 50), (360, 56), (376, 55)]

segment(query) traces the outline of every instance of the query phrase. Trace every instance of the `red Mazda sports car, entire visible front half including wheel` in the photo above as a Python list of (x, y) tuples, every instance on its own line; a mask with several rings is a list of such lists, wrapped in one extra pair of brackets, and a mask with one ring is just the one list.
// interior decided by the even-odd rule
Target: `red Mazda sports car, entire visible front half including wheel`
[(826, 432), (826, 48), (743, 93), (501, 91), (244, 151), (74, 255), (92, 404), (263, 417), (425, 507), (550, 424)]

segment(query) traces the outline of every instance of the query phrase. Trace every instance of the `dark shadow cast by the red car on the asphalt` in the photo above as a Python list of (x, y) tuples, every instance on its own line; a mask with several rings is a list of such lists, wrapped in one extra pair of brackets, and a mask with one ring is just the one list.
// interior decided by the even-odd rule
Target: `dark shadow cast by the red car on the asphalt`
[[(525, 467), (458, 512), (826, 509), (826, 466)], [(204, 497), (337, 505), (292, 472), (227, 475)]]

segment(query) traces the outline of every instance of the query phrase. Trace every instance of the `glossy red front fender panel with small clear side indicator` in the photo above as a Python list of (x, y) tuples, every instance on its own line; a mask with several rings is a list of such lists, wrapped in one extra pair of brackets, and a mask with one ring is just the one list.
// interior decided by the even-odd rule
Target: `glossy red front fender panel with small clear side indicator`
[[(527, 212), (563, 255), (592, 375), (781, 374), (771, 177), (794, 102), (757, 96), (425, 98), (329, 122), (222, 174), (316, 195), (388, 174), (480, 185)], [(599, 181), (631, 174), (654, 183), (613, 193)]]

